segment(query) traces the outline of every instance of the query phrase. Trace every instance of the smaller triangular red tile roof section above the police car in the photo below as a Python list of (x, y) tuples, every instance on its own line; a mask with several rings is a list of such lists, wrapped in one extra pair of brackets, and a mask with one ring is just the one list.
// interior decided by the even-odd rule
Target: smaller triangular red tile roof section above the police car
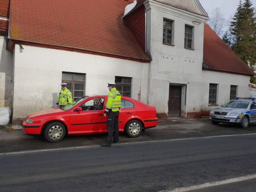
[(240, 59), (216, 33), (204, 25), (203, 69), (242, 75), (254, 75), (254, 72)]

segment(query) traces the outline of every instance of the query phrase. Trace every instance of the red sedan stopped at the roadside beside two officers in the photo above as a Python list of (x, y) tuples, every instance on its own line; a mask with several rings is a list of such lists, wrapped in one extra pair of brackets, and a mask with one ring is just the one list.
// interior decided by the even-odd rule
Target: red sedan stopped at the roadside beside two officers
[[(100, 100), (100, 104), (96, 101)], [(107, 132), (104, 117), (107, 96), (84, 96), (71, 104), (29, 114), (22, 127), (26, 134), (44, 135), (49, 142), (58, 142), (66, 135)], [(140, 136), (142, 130), (158, 123), (156, 108), (122, 96), (119, 114), (119, 131), (130, 137)]]

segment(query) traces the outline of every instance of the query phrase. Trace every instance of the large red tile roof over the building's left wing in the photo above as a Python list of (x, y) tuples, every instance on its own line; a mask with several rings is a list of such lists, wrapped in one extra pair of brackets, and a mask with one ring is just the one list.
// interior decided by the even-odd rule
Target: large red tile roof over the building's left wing
[(10, 37), (150, 62), (122, 18), (128, 4), (124, 0), (12, 0)]

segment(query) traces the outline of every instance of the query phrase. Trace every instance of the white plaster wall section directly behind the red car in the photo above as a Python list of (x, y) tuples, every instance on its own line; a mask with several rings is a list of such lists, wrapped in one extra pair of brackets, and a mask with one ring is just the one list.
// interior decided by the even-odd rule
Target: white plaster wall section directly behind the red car
[(13, 119), (54, 108), (62, 72), (86, 74), (85, 94), (108, 94), (115, 76), (132, 78), (132, 98), (147, 103), (148, 63), (64, 50), (15, 45)]

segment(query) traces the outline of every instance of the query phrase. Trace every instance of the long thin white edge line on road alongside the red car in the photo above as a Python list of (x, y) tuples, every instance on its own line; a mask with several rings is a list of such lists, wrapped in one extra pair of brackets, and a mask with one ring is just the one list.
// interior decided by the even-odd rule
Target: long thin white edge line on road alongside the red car
[[(139, 143), (150, 143), (150, 142), (166, 142), (166, 141), (204, 139), (204, 138), (214, 138), (214, 137), (244, 136), (244, 135), (255, 135), (255, 134), (256, 133), (251, 133), (251, 134), (235, 134), (235, 135), (220, 135), (220, 136), (209, 136), (209, 137), (196, 137), (196, 138), (183, 138), (183, 139), (139, 141), (139, 142), (127, 142), (127, 143), (115, 143), (115, 144), (112, 144), (112, 145), (116, 146), (116, 145), (125, 145), (125, 144), (139, 144)], [(0, 153), (0, 155), (12, 155), (12, 154), (23, 154), (23, 153), (34, 153), (34, 152), (43, 152), (43, 151), (56, 151), (56, 150), (69, 150), (69, 149), (81, 149), (81, 148), (92, 148), (92, 147), (100, 147), (100, 145), (78, 146), (78, 147), (64, 147), (64, 148), (55, 148), (55, 149), (27, 150), (27, 151)]]

